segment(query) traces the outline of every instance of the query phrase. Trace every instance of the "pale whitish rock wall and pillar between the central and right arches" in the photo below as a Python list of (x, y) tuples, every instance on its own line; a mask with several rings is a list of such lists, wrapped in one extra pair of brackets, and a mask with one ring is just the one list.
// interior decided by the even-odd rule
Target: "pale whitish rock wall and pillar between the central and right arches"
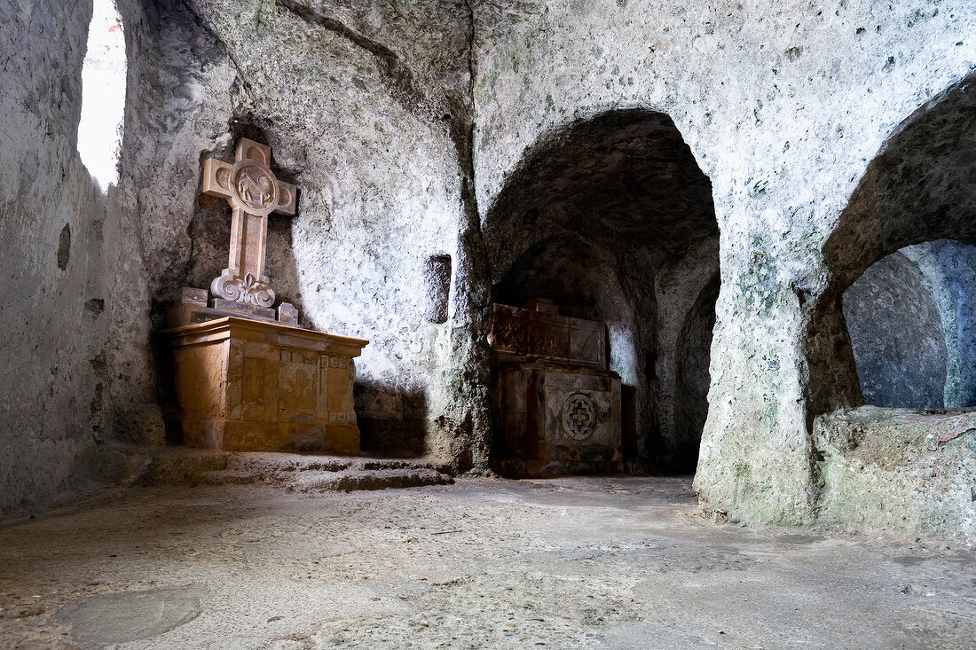
[[(919, 106), (964, 85), (974, 19), (962, 3), (476, 5), (482, 215), (534, 142), (608, 110), (667, 114), (712, 182), (721, 290), (696, 476), (706, 509), (813, 516), (812, 418), (860, 398), (853, 357), (834, 362), (839, 339), (817, 312), (834, 300), (822, 297), (840, 273), (825, 248), (882, 142)], [(953, 114), (957, 137), (967, 118)], [(916, 178), (933, 183), (931, 194), (957, 178), (938, 175)], [(821, 349), (832, 361), (816, 360)], [(835, 383), (833, 371), (852, 376), (853, 389), (824, 394), (820, 386), (851, 384)]]

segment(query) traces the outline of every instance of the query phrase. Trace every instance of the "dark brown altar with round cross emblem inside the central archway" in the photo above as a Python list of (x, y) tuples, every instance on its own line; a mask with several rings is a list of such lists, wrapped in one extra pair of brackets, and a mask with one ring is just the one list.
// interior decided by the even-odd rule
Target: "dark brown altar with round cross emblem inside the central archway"
[(601, 322), (494, 305), (497, 373), (492, 467), (510, 477), (623, 469), (621, 380), (608, 370)]

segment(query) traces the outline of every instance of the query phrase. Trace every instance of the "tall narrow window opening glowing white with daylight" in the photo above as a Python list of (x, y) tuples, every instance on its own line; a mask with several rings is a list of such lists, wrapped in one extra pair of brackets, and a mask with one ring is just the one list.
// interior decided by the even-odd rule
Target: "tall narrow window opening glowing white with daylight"
[(81, 68), (78, 153), (102, 185), (118, 183), (125, 112), (125, 38), (114, 0), (95, 0), (88, 27), (88, 52)]

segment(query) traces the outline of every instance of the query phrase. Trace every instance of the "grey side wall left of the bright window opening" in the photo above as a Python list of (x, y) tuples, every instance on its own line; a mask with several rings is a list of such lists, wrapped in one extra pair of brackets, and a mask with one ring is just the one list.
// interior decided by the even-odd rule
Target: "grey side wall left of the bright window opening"
[(103, 435), (104, 204), (75, 148), (90, 17), (0, 2), (0, 512), (80, 481)]

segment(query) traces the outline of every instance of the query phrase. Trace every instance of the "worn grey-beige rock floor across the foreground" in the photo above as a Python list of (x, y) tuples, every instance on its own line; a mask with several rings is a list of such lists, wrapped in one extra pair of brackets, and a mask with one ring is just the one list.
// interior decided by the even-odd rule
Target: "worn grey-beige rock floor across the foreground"
[(695, 506), (685, 478), (137, 488), (0, 523), (0, 647), (972, 647), (972, 549)]

